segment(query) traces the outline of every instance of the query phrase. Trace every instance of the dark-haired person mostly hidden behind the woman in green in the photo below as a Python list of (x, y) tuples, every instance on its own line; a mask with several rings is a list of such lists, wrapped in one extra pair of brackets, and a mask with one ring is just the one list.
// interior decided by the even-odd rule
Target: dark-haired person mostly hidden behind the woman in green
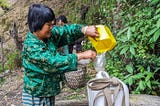
[[(65, 15), (60, 15), (58, 18), (57, 18), (57, 25), (59, 26), (63, 26), (65, 24), (67, 24), (68, 21), (67, 21), (67, 17)], [(74, 44), (69, 44), (69, 45), (65, 45), (63, 46), (62, 48), (60, 48), (60, 51), (63, 53), (63, 54), (68, 54), (68, 53), (72, 53), (73, 51), (73, 45)]]

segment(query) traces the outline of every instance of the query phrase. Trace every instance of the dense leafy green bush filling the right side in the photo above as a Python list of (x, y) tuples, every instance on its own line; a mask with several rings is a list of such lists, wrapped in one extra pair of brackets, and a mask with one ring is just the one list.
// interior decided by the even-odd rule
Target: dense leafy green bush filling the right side
[[(131, 93), (160, 95), (160, 57), (155, 52), (160, 39), (160, 4), (157, 0), (139, 1), (138, 4), (127, 2), (131, 8), (122, 8), (123, 15), (120, 17), (123, 27), (117, 31), (117, 46), (110, 55), (113, 59), (107, 60), (106, 69), (124, 80)], [(125, 77), (120, 76), (121, 73)]]

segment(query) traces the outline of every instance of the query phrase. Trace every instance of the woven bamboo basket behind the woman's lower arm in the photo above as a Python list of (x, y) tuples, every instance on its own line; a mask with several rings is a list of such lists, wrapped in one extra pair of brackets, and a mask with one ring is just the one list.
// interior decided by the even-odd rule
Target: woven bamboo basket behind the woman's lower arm
[(72, 89), (83, 87), (86, 83), (86, 66), (78, 65), (77, 71), (71, 71), (65, 73), (68, 87)]

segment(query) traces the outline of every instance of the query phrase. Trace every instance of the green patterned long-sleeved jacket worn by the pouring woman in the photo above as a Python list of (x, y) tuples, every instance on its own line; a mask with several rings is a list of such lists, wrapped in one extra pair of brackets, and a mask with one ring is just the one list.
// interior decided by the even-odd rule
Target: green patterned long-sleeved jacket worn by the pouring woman
[(24, 41), (22, 61), (24, 90), (36, 97), (50, 97), (60, 93), (60, 75), (77, 68), (75, 54), (60, 55), (57, 49), (84, 36), (82, 25), (53, 27), (46, 42), (29, 32)]

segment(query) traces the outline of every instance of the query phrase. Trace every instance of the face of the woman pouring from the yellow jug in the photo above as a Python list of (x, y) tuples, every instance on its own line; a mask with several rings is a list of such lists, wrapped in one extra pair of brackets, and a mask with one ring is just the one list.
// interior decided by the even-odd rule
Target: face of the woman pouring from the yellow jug
[(51, 30), (54, 25), (54, 21), (47, 22), (43, 25), (42, 29), (38, 31), (38, 37), (42, 40), (44, 38), (49, 38), (51, 35)]

